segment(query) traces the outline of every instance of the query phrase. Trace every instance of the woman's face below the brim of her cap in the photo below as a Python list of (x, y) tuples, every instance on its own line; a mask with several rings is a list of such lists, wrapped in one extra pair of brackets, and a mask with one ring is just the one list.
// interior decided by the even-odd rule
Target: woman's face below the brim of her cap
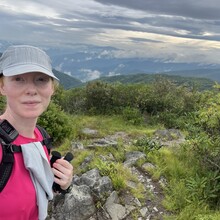
[(36, 119), (47, 109), (54, 86), (51, 77), (34, 72), (4, 77), (0, 91), (7, 99), (7, 113)]

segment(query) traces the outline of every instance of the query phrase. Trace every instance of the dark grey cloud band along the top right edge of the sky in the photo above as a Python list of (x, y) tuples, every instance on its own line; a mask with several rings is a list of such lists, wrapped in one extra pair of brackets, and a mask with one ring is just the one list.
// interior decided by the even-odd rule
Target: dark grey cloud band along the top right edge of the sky
[(143, 10), (156, 14), (176, 15), (197, 19), (220, 19), (218, 0), (95, 0), (102, 4)]

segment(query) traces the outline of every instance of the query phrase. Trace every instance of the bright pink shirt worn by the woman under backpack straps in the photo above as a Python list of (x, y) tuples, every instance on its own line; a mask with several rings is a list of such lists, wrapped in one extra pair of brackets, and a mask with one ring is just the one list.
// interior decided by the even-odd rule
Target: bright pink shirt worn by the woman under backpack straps
[[(35, 139), (21, 135), (13, 142), (16, 145), (41, 141), (40, 131), (35, 129)], [(46, 147), (44, 150), (48, 156)], [(0, 147), (0, 161), (2, 148)], [(24, 166), (22, 153), (14, 153), (14, 167), (5, 188), (0, 192), (0, 219), (1, 220), (38, 220), (36, 193), (29, 171)]]

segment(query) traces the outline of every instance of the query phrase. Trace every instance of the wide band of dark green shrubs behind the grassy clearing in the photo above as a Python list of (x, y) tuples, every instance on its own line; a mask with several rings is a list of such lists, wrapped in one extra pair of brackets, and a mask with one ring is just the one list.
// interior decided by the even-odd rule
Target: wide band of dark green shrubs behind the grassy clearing
[[(187, 113), (197, 107), (200, 93), (177, 86), (160, 76), (152, 84), (110, 84), (89, 82), (86, 87), (58, 91), (54, 99), (71, 114), (122, 114), (131, 124), (141, 124), (143, 116), (155, 116), (167, 127), (182, 127)], [(182, 119), (181, 119), (182, 118)]]

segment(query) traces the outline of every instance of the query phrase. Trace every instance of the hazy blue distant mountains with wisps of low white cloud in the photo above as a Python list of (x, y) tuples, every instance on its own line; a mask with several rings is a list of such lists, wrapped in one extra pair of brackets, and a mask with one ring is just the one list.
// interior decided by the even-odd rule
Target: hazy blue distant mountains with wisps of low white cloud
[[(11, 44), (16, 43), (0, 41), (0, 52)], [(139, 73), (202, 77), (220, 82), (220, 64), (175, 63), (156, 58), (130, 57), (118, 48), (86, 44), (71, 45), (71, 48), (35, 46), (41, 47), (49, 54), (56, 71), (72, 76), (76, 80), (74, 86), (78, 84), (77, 80), (88, 82), (100, 77)], [(70, 78), (70, 81), (72, 80)], [(67, 88), (71, 87), (70, 85), (72, 83), (69, 82)]]

